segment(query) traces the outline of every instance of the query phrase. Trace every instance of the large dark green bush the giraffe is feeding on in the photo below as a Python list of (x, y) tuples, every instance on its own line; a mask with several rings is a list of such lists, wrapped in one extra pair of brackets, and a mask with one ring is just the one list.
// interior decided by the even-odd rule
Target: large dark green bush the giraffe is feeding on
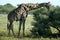
[(33, 28), (31, 32), (33, 34), (39, 35), (49, 35), (52, 34), (50, 27), (56, 28), (59, 32), (60, 28), (60, 7), (51, 6), (50, 10), (48, 11), (45, 7), (40, 8), (33, 13), (34, 20)]

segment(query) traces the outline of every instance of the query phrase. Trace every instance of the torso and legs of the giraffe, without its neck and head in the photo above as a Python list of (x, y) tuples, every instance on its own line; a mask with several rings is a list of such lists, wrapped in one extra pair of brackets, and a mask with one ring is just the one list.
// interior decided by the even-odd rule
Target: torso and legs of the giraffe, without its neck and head
[(24, 6), (20, 6), (16, 9), (14, 9), (13, 11), (11, 11), (8, 14), (8, 21), (9, 21), (9, 23), (7, 23), (7, 29), (9, 31), (8, 34), (10, 34), (10, 30), (11, 30), (13, 35), (15, 36), (14, 30), (13, 30), (13, 22), (19, 21), (19, 33), (18, 33), (18, 35), (20, 34), (20, 29), (21, 29), (22, 24), (23, 24), (23, 35), (24, 35), (25, 20), (26, 20), (27, 15), (28, 15), (27, 10), (26, 10), (26, 8), (24, 8)]

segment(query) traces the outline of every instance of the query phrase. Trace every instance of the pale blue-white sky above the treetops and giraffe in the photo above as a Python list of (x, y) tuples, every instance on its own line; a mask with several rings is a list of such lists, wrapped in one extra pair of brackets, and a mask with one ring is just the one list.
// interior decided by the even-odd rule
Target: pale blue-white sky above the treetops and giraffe
[(54, 6), (60, 6), (60, 0), (0, 0), (0, 5), (4, 5), (10, 3), (14, 6), (21, 3), (43, 3), (43, 2), (50, 2)]

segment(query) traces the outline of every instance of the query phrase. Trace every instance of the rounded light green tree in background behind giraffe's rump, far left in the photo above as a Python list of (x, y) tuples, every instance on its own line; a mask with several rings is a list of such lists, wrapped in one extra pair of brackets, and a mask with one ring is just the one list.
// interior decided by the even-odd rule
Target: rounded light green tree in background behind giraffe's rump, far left
[(5, 5), (0, 5), (0, 13), (9, 13), (10, 11), (12, 11), (13, 9), (15, 9), (15, 7), (9, 3), (5, 4)]

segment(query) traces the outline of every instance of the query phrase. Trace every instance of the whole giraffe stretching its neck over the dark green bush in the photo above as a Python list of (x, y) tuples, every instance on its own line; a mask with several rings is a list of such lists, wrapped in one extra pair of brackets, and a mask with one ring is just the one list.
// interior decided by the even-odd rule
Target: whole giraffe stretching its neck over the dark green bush
[(20, 30), (21, 26), (23, 25), (23, 36), (25, 35), (25, 21), (28, 16), (28, 12), (33, 9), (37, 9), (40, 7), (46, 7), (49, 10), (50, 7), (50, 2), (48, 3), (40, 3), (40, 4), (20, 4), (16, 9), (12, 10), (8, 14), (8, 23), (7, 23), (7, 29), (8, 29), (8, 34), (10, 35), (10, 30), (12, 31), (13, 35), (14, 30), (13, 30), (13, 22), (14, 21), (19, 21), (19, 31), (18, 31), (18, 36), (20, 36)]

